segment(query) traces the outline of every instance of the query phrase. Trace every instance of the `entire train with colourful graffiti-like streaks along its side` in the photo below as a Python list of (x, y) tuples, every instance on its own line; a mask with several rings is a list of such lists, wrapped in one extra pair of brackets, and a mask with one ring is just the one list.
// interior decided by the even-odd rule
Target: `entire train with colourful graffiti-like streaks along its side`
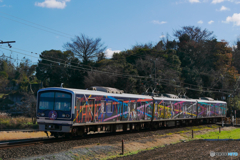
[(55, 137), (90, 131), (157, 128), (169, 124), (217, 122), (226, 102), (125, 94), (71, 88), (45, 88), (37, 95), (40, 131)]

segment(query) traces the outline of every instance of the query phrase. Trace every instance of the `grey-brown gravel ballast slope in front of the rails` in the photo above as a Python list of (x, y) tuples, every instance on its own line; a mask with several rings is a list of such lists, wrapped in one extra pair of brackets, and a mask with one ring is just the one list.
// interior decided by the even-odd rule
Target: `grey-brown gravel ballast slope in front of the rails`
[[(205, 125), (205, 126), (211, 126), (211, 125)], [(38, 144), (38, 145), (32, 145), (32, 146), (1, 149), (0, 158), (4, 160), (4, 159), (16, 159), (16, 158), (21, 159), (21, 158), (34, 157), (34, 156), (41, 157), (43, 155), (49, 155), (49, 154), (53, 156), (54, 153), (59, 153), (59, 152), (66, 154), (64, 152), (67, 152), (68, 150), (78, 146), (85, 146), (85, 145), (92, 145), (92, 144), (96, 146), (97, 144), (106, 144), (106, 145), (114, 144), (116, 142), (121, 142), (122, 139), (124, 139), (124, 141), (127, 142), (130, 140), (137, 139), (139, 137), (144, 139), (144, 137), (148, 137), (152, 135), (163, 135), (166, 133), (179, 132), (183, 130), (189, 130), (189, 128), (183, 127), (183, 128), (162, 129), (162, 130), (156, 130), (156, 131), (141, 131), (136, 133), (133, 132), (133, 133), (105, 134), (103, 136), (93, 136), (93, 138), (74, 139), (74, 140), (69, 140), (64, 142), (55, 142), (55, 143)], [(85, 153), (84, 150), (82, 152)]]

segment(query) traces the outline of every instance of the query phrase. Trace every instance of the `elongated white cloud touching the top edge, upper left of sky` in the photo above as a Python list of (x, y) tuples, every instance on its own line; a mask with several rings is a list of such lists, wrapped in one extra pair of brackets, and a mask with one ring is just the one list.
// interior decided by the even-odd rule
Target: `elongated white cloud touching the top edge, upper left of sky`
[(45, 0), (42, 3), (35, 2), (35, 6), (64, 9), (67, 6), (66, 2), (70, 2), (70, 1), (71, 0)]

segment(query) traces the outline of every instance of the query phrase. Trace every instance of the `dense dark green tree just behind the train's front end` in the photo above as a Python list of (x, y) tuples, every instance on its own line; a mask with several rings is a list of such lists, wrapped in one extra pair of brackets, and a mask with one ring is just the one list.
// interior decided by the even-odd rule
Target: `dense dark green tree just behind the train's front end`
[(61, 83), (64, 83), (65, 87), (84, 87), (82, 77), (85, 73), (79, 70), (81, 63), (72, 52), (44, 51), (40, 58), (36, 76), (43, 82), (44, 87), (56, 87)]

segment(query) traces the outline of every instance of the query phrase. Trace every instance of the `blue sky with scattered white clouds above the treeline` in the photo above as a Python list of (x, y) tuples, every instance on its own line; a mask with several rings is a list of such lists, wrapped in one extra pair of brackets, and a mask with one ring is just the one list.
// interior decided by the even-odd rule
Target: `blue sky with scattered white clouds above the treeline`
[[(240, 0), (0, 0), (0, 55), (38, 61), (75, 36), (101, 38), (106, 55), (153, 43), (183, 26), (213, 31), (218, 41), (240, 38)], [(18, 59), (18, 61), (16, 60)]]

